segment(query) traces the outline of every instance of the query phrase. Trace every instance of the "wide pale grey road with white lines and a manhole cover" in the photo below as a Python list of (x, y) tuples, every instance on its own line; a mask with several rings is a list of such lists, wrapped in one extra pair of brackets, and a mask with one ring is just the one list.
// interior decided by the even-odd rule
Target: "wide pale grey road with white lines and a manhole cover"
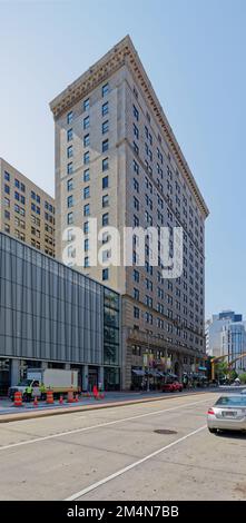
[(246, 436), (206, 428), (216, 397), (1, 424), (0, 500), (246, 500)]

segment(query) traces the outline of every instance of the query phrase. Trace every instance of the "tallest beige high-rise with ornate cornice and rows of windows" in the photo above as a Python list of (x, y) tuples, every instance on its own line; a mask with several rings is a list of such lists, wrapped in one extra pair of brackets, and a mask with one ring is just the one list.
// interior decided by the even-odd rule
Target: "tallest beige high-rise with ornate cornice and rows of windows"
[[(63, 230), (77, 226), (89, 233), (89, 217), (97, 218), (98, 228), (115, 226), (120, 234), (125, 226), (184, 230), (184, 269), (177, 279), (163, 279), (161, 265), (150, 266), (148, 238), (142, 267), (137, 266), (136, 251), (132, 267), (90, 266), (88, 236), (88, 256), (79, 270), (122, 295), (122, 387), (142, 379), (147, 353), (159, 372), (168, 368), (181, 377), (183, 372), (198, 369), (205, 357), (208, 209), (130, 38), (50, 107), (56, 126), (58, 258), (72, 238), (63, 241)], [(122, 248), (121, 243), (121, 262)]]

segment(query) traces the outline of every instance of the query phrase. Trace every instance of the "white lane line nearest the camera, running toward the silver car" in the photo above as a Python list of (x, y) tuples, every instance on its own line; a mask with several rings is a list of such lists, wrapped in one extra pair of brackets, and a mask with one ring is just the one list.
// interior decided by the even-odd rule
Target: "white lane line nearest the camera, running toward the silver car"
[(135, 468), (136, 466), (140, 465), (141, 463), (145, 463), (148, 460), (151, 460), (151, 457), (157, 456), (161, 452), (167, 451), (168, 448), (170, 448), (175, 445), (178, 445), (178, 443), (184, 442), (185, 440), (187, 440), (190, 436), (194, 436), (195, 434), (198, 434), (199, 432), (204, 431), (206, 427), (207, 427), (207, 425), (203, 425), (201, 427), (197, 428), (196, 431), (193, 431), (189, 434), (186, 434), (185, 436), (179, 437), (179, 440), (176, 440), (175, 442), (163, 446), (158, 451), (155, 451), (151, 454), (148, 454), (148, 456), (145, 456), (141, 460), (138, 460), (137, 462), (131, 463), (131, 465), (125, 466), (125, 468), (120, 468), (119, 471), (115, 472), (110, 476), (104, 477), (102, 480), (94, 483), (92, 485), (89, 485), (86, 489), (82, 489), (82, 491), (76, 492), (76, 494), (72, 494), (71, 496), (67, 497), (65, 501), (76, 501), (79, 497), (82, 497), (85, 494), (88, 494), (89, 492), (95, 491), (99, 486), (105, 485), (105, 483), (108, 483), (109, 481), (115, 480), (118, 476), (121, 476), (126, 472), (130, 471), (131, 468)]

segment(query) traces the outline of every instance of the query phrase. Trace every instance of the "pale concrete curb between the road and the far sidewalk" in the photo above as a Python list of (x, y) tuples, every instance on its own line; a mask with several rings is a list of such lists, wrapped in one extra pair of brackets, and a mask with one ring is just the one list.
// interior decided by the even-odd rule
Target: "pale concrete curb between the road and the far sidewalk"
[(157, 396), (157, 397), (142, 397), (140, 399), (129, 399), (129, 401), (122, 401), (122, 402), (116, 402), (116, 403), (104, 403), (102, 405), (80, 405), (76, 407), (70, 407), (70, 408), (53, 408), (50, 411), (33, 411), (33, 412), (26, 412), (26, 413), (17, 413), (17, 414), (2, 414), (0, 415), (0, 423), (11, 423), (11, 422), (20, 422), (24, 420), (33, 420), (38, 417), (48, 417), (48, 416), (58, 416), (61, 414), (72, 414), (76, 412), (86, 412), (86, 411), (98, 411), (102, 408), (112, 408), (112, 407), (121, 407), (121, 406), (127, 406), (127, 405), (137, 405), (138, 403), (150, 403), (150, 402), (161, 402), (165, 399), (171, 399), (174, 397), (180, 398), (180, 397), (187, 397), (187, 396), (197, 396), (201, 394), (206, 394), (207, 391), (200, 391), (200, 392), (195, 392), (191, 394), (179, 394), (178, 396), (169, 395), (169, 396)]

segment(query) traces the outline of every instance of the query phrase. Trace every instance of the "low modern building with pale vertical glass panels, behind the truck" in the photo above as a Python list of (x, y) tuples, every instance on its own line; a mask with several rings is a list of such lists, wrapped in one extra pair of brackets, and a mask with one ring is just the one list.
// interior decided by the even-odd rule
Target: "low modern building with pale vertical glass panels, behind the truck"
[(0, 233), (0, 392), (30, 366), (117, 389), (120, 354), (119, 295)]

